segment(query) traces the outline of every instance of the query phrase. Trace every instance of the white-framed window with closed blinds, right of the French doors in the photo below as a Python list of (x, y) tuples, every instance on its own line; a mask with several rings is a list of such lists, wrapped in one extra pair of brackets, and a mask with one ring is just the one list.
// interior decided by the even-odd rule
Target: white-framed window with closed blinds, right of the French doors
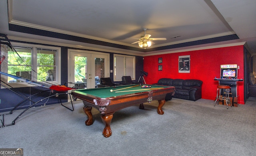
[(122, 76), (135, 80), (135, 57), (114, 54), (114, 81), (122, 81)]

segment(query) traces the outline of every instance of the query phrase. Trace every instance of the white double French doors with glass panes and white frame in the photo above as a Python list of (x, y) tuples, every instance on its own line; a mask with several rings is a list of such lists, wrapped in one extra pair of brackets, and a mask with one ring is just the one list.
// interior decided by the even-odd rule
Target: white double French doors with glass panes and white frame
[(68, 82), (69, 87), (78, 89), (95, 88), (100, 77), (109, 77), (109, 54), (92, 51), (68, 50)]

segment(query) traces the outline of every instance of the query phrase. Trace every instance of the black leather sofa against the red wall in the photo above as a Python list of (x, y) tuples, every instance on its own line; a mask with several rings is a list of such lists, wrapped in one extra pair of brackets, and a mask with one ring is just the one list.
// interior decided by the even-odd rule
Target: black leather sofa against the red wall
[(172, 95), (171, 93), (166, 95), (165, 100), (170, 100), (172, 97), (178, 99), (186, 99), (196, 101), (202, 98), (202, 81), (195, 79), (169, 79), (162, 78), (158, 80), (156, 85), (164, 85), (164, 86), (174, 86), (175, 93)]

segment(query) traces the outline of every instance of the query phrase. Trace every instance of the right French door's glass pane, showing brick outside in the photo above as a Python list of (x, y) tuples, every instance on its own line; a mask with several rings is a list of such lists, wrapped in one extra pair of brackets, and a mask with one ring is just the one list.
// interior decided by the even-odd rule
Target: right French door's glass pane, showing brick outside
[(95, 88), (100, 84), (100, 77), (105, 77), (105, 59), (95, 58)]

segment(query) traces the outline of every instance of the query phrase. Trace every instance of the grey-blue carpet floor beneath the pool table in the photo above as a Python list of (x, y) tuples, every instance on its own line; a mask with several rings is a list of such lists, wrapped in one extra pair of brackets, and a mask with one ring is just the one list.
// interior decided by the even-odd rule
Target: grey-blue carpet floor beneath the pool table
[(164, 115), (156, 112), (158, 101), (144, 103), (144, 110), (128, 107), (114, 113), (109, 138), (98, 110), (92, 109), (94, 123), (84, 124), (82, 101), (74, 102), (74, 111), (60, 104), (34, 107), (0, 128), (0, 148), (23, 148), (24, 156), (255, 156), (256, 98), (228, 109), (213, 104), (173, 98)]

